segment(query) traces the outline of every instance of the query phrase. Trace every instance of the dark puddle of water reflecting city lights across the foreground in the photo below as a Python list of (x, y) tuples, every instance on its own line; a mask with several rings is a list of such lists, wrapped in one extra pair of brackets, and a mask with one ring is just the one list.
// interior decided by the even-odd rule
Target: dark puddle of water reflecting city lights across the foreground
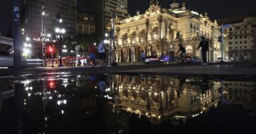
[(255, 131), (255, 80), (51, 75), (0, 79), (5, 133)]

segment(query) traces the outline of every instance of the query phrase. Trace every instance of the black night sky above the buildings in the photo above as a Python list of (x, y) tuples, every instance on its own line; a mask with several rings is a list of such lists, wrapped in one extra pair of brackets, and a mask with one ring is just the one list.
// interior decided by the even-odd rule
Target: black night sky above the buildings
[[(169, 8), (173, 0), (159, 0), (161, 7)], [(176, 0), (186, 8), (198, 11), (200, 14), (207, 12), (211, 20), (221, 19), (244, 14), (256, 14), (256, 0)], [(11, 26), (12, 0), (1, 0), (0, 4), (0, 31), (5, 35)], [(149, 7), (150, 0), (128, 0), (128, 10), (133, 16), (137, 10), (143, 14)]]

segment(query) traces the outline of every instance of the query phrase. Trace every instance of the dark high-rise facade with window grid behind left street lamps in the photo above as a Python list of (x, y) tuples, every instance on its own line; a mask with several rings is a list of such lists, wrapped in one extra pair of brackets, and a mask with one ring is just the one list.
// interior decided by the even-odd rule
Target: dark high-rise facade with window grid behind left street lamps
[[(22, 12), (22, 44), (27, 37), (31, 43), (31, 57), (42, 58), (42, 37), (51, 34), (54, 39), (56, 15), (60, 14), (60, 27), (66, 29), (65, 35), (75, 34), (76, 19), (75, 0), (26, 0)], [(44, 13), (43, 13), (44, 12)], [(43, 27), (43, 28), (42, 28)], [(43, 33), (43, 34), (42, 34)], [(43, 36), (42, 36), (43, 35)], [(50, 41), (50, 40), (44, 40)]]

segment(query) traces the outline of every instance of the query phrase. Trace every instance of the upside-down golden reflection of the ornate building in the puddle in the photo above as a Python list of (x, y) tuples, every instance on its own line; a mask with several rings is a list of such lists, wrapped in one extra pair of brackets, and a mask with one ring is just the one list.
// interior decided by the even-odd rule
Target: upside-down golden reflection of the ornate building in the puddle
[[(152, 123), (163, 117), (190, 118), (217, 105), (220, 82), (204, 78), (116, 76), (116, 107), (148, 116)], [(113, 92), (113, 91), (112, 91)]]

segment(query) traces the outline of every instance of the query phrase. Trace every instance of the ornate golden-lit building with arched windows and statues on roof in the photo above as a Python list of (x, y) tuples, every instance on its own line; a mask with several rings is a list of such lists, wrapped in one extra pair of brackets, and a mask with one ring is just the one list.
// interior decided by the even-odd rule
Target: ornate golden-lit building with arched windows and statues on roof
[[(150, 8), (144, 14), (119, 21), (116, 19), (117, 62), (140, 61), (140, 51), (147, 56), (173, 56), (182, 43), (188, 56), (200, 58), (197, 49), (200, 36), (209, 40), (208, 61), (221, 56), (218, 37), (221, 35), (217, 22), (211, 22), (207, 13), (203, 16), (188, 10), (185, 4), (171, 4), (171, 8), (161, 8), (158, 1), (150, 1)], [(133, 57), (133, 58), (131, 58)]]

